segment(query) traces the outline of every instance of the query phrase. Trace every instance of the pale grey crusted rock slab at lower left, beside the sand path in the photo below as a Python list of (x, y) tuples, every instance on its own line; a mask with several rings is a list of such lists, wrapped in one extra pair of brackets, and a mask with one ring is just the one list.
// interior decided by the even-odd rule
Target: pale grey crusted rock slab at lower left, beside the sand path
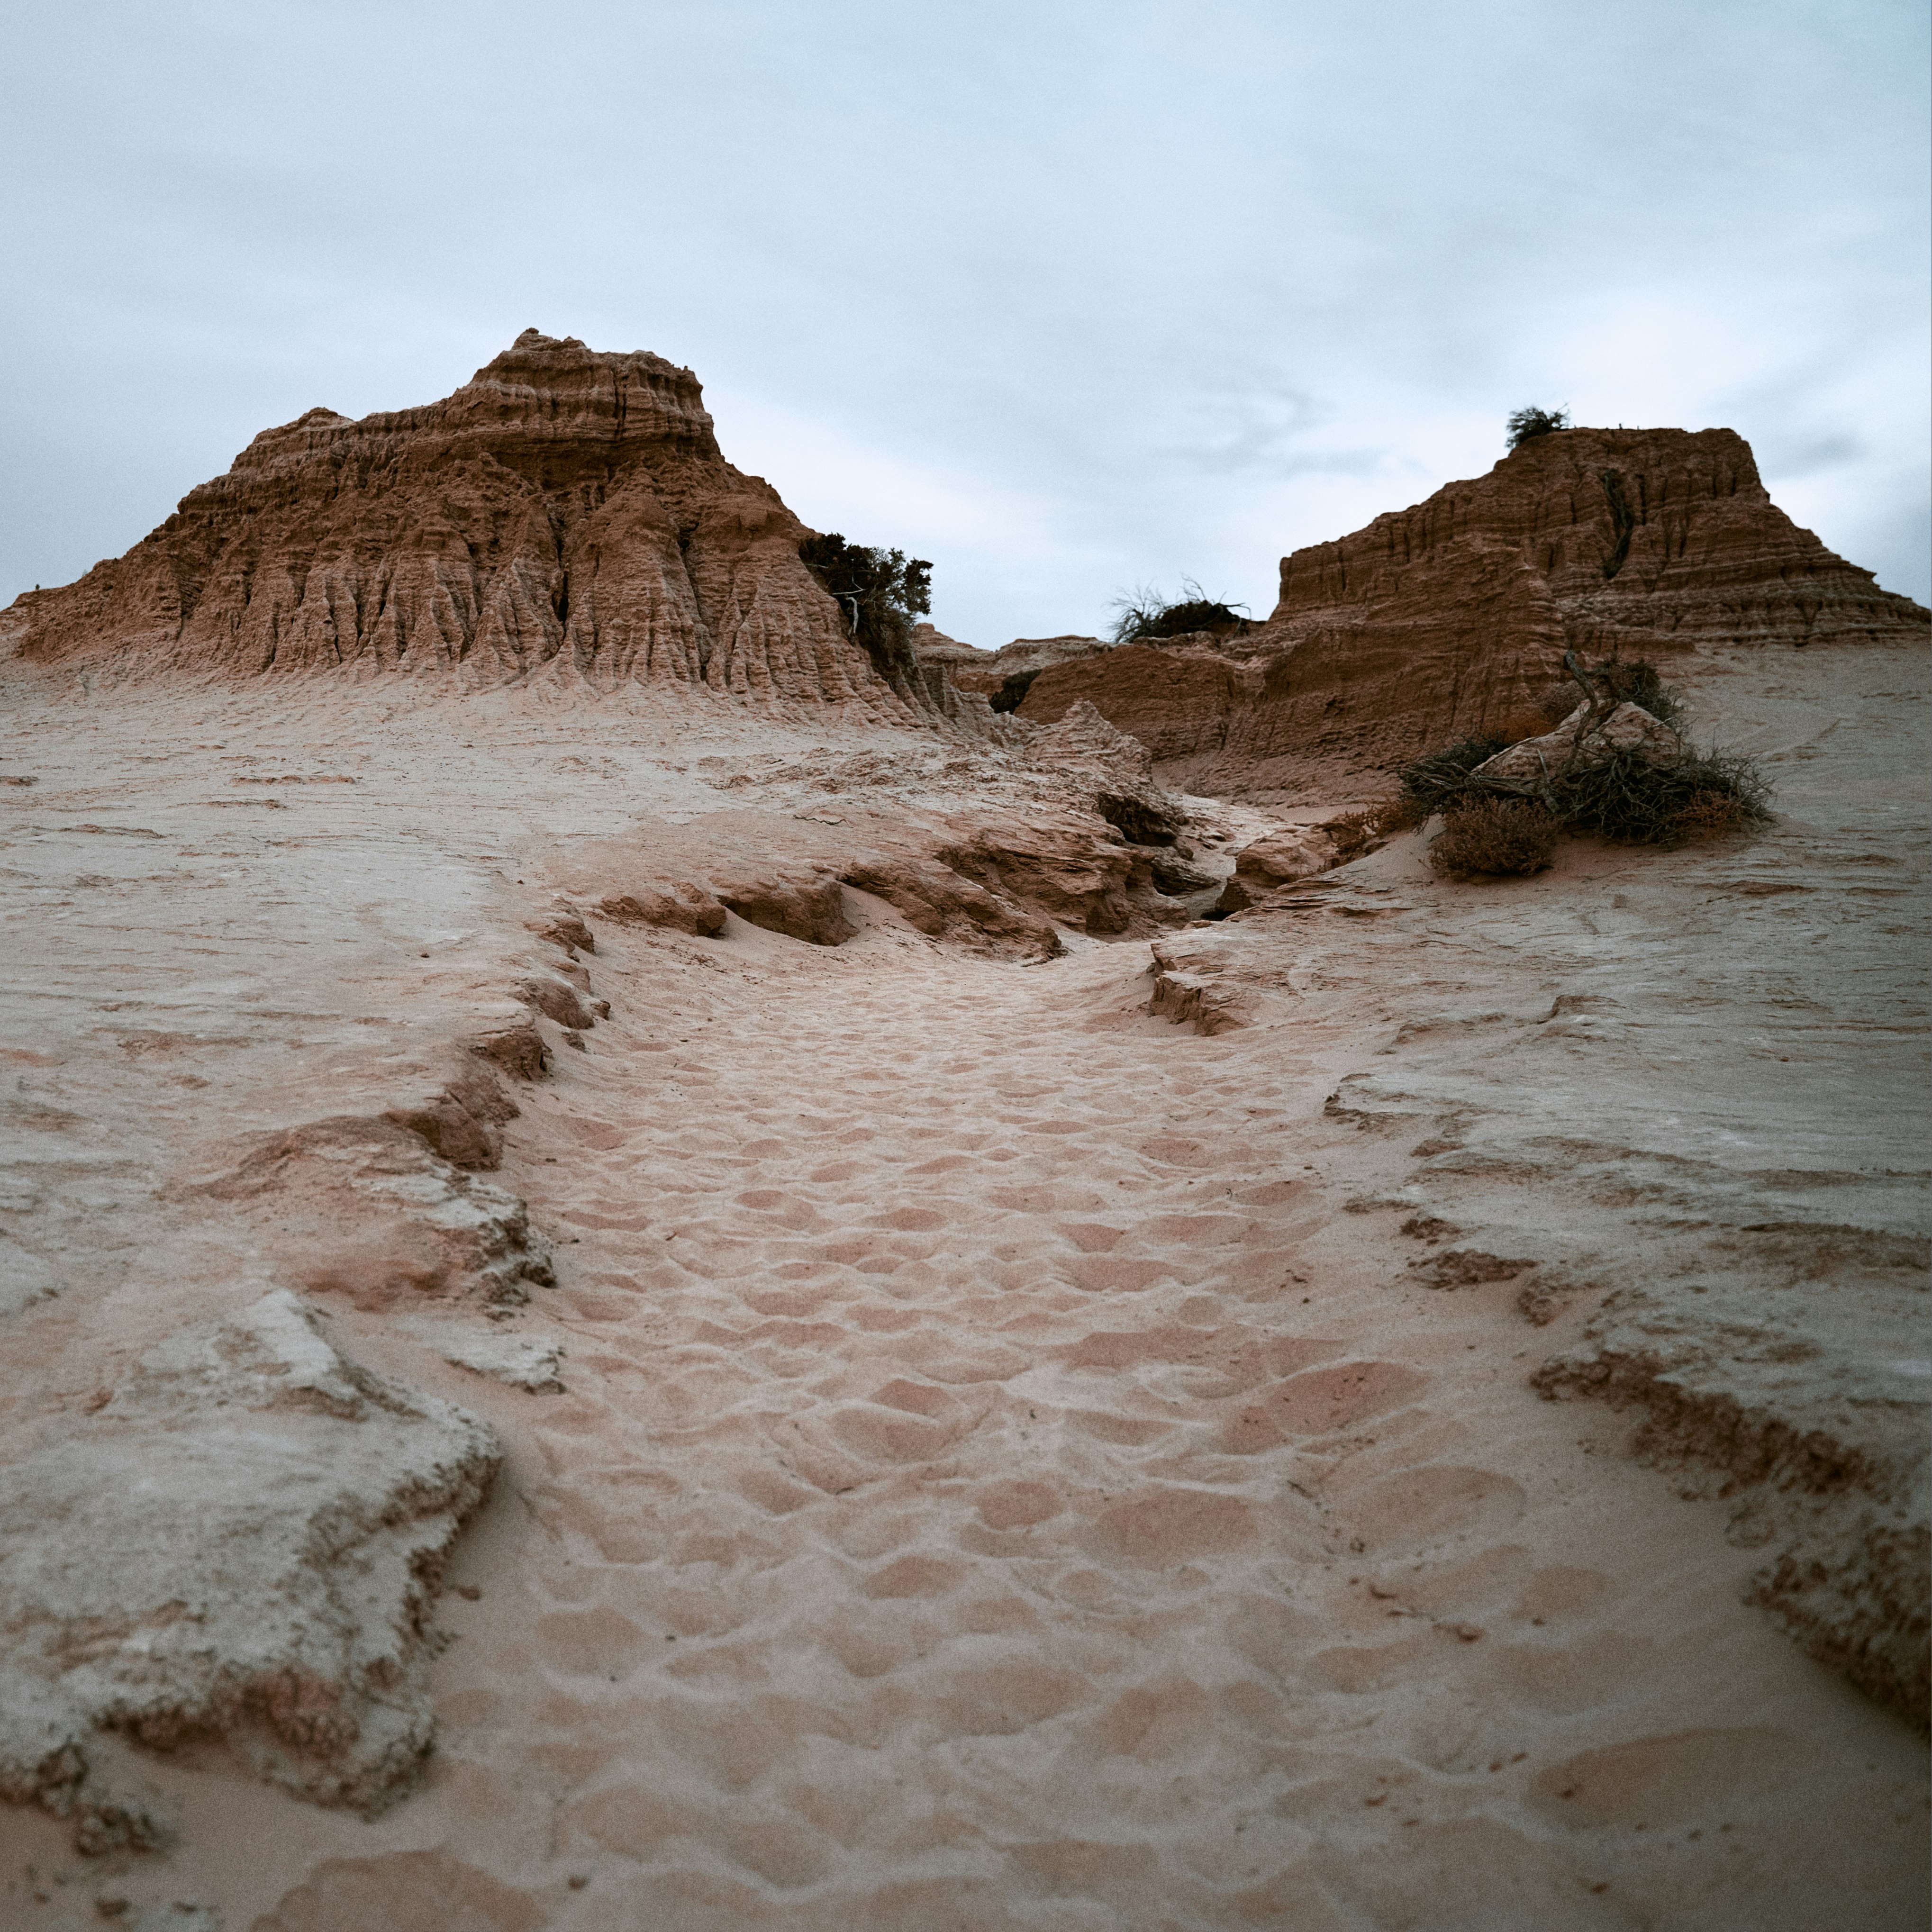
[(431, 1747), (425, 1613), (500, 1449), (357, 1368), (288, 1291), (182, 1329), (8, 1472), (0, 1793), (83, 1849), (162, 1826), (89, 1737), (220, 1733), (303, 1797), (373, 1812)]

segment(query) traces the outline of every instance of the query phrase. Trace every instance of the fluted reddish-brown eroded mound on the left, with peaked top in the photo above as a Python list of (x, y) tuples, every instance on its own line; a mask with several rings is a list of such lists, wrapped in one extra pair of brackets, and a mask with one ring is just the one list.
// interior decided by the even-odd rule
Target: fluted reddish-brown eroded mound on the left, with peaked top
[(137, 672), (551, 672), (904, 717), (798, 560), (804, 533), (724, 462), (690, 369), (526, 330), (442, 402), (263, 431), (0, 630), (31, 661)]

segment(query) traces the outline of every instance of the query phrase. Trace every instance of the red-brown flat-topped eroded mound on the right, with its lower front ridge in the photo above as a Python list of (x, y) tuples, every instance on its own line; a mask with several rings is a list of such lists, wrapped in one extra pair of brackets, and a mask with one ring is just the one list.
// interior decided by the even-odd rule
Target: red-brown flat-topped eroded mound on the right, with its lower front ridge
[(1294, 788), (1501, 723), (1565, 649), (1924, 638), (1932, 616), (1766, 495), (1729, 429), (1573, 429), (1296, 551), (1244, 638), (1053, 665), (1020, 717), (1086, 699), (1200, 788)]

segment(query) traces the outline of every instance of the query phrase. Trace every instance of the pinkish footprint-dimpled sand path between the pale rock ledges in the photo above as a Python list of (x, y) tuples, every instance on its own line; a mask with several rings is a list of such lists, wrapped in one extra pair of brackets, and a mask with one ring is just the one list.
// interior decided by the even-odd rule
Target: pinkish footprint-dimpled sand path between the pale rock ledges
[(352, 1861), (286, 1926), (404, 1847), (518, 1880), (489, 1926), (531, 1882), (572, 1928), (1913, 1922), (1903, 1733), (1343, 1211), (1347, 1045), (869, 910), (603, 943), (616, 1018), (518, 1126), (570, 1393), (460, 1381), (512, 1463), (431, 1789), (184, 1779), (203, 1895), (272, 1816), (261, 1903)]

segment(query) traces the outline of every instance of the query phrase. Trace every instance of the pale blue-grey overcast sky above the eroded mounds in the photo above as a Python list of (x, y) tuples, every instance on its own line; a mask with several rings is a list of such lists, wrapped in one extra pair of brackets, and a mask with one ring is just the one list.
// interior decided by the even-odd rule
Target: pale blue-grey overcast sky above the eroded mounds
[(1729, 425), (1928, 560), (1922, 0), (15, 0), (0, 601), (526, 327), (692, 365), (943, 630), (1099, 630), (1503, 452)]

